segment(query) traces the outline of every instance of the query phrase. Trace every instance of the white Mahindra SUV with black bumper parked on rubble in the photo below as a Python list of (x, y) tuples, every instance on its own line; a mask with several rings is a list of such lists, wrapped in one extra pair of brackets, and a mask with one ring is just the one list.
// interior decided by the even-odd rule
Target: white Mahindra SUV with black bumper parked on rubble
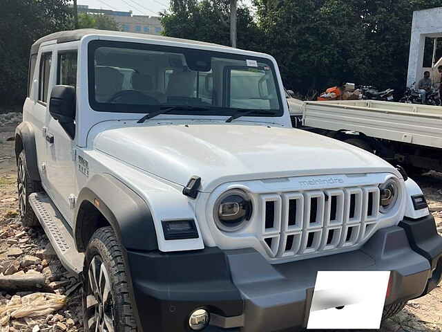
[(71, 30), (29, 73), (21, 221), (84, 277), (85, 331), (296, 331), (327, 270), (391, 271), (385, 319), (439, 283), (419, 186), (292, 129), (270, 55)]

